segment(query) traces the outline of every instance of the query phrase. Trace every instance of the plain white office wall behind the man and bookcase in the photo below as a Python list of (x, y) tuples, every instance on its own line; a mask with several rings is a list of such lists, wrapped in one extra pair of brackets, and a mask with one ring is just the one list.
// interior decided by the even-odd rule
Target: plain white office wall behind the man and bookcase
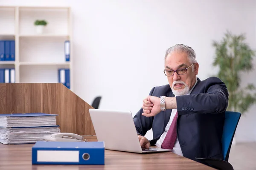
[[(218, 71), (211, 66), (211, 43), (227, 29), (246, 33), (256, 49), (253, 0), (0, 0), (0, 5), (71, 6), (74, 92), (89, 104), (101, 95), (100, 108), (133, 115), (151, 88), (168, 83), (163, 57), (170, 46), (194, 48), (201, 80)], [(256, 84), (255, 74), (243, 74), (242, 84)], [(256, 141), (255, 109), (241, 118), (238, 142)]]

